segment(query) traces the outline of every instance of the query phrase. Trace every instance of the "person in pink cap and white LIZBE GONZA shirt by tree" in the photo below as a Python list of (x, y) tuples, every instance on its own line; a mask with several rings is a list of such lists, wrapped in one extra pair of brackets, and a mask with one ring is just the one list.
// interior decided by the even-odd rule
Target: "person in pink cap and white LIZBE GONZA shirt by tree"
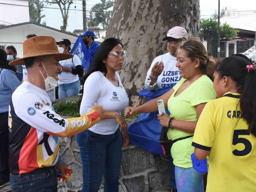
[[(187, 31), (183, 27), (173, 27), (168, 32), (163, 41), (167, 40), (168, 52), (163, 55), (157, 56), (148, 70), (145, 79), (145, 87), (147, 90), (155, 90), (156, 88), (165, 88), (166, 91), (170, 90), (181, 79), (178, 68), (176, 67), (177, 58), (176, 50), (179, 45), (188, 38)], [(168, 169), (170, 176), (170, 187), (172, 191), (176, 191), (175, 183), (175, 166), (171, 156), (167, 157)]]

